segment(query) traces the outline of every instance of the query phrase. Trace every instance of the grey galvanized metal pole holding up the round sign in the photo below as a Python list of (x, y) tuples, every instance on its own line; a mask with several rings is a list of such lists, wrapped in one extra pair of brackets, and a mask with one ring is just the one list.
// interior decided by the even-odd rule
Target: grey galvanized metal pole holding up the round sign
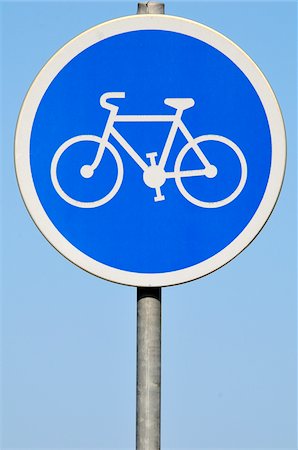
[[(138, 14), (164, 14), (164, 3), (138, 3)], [(137, 288), (136, 449), (160, 450), (161, 288)]]

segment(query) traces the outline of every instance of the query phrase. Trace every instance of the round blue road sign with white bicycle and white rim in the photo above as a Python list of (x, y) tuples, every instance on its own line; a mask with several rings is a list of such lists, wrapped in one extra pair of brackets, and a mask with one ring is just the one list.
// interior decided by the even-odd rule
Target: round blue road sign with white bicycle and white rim
[(38, 228), (99, 277), (202, 277), (259, 233), (279, 195), (285, 131), (264, 75), (179, 17), (128, 16), (66, 44), (23, 104), (15, 160)]

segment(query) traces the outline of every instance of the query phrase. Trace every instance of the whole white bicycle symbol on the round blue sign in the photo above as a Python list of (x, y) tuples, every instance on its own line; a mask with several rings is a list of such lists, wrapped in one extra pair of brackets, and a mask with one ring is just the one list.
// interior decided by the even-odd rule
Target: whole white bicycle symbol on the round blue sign
[[(119, 107), (109, 103), (107, 100), (109, 99), (117, 99), (117, 98), (125, 98), (125, 92), (106, 92), (100, 97), (100, 105), (102, 108), (105, 108), (110, 111), (109, 117), (105, 126), (105, 130), (103, 132), (103, 136), (94, 136), (94, 135), (79, 135), (75, 136), (71, 139), (65, 141), (54, 154), (52, 163), (51, 163), (51, 179), (53, 186), (59, 196), (65, 200), (70, 205), (79, 207), (79, 208), (95, 208), (97, 206), (102, 206), (105, 203), (109, 202), (118, 192), (122, 180), (123, 180), (123, 162), (115, 147), (109, 142), (109, 137), (113, 136), (118, 143), (123, 147), (123, 149), (128, 153), (128, 155), (136, 162), (136, 164), (143, 170), (143, 180), (146, 186), (155, 189), (155, 197), (154, 201), (159, 202), (165, 200), (164, 195), (161, 193), (161, 187), (164, 185), (166, 180), (175, 179), (177, 188), (180, 193), (183, 195), (185, 199), (189, 202), (193, 203), (196, 206), (200, 206), (203, 208), (218, 208), (221, 206), (225, 206), (232, 202), (242, 191), (246, 179), (247, 179), (247, 164), (245, 157), (240, 150), (240, 148), (230, 139), (216, 135), (216, 134), (207, 134), (202, 135), (197, 138), (193, 138), (185, 124), (182, 121), (183, 111), (194, 106), (195, 102), (192, 98), (166, 98), (164, 103), (172, 108), (176, 109), (176, 113), (174, 115), (119, 115), (118, 109)], [(147, 153), (146, 157), (149, 159), (150, 163), (147, 164), (138, 153), (132, 148), (132, 146), (124, 139), (124, 137), (114, 128), (115, 122), (170, 122), (172, 123), (168, 137), (166, 139), (165, 146), (162, 150), (161, 157), (159, 162), (156, 162), (156, 157), (158, 156), (156, 152)], [(166, 172), (165, 166), (171, 151), (172, 144), (174, 142), (177, 131), (180, 130), (184, 137), (187, 140), (187, 144), (180, 150), (173, 172)], [(217, 175), (217, 168), (212, 165), (203, 151), (200, 149), (199, 144), (206, 141), (216, 141), (221, 142), (232, 149), (237, 155), (240, 167), (241, 167), (241, 176), (238, 185), (235, 187), (233, 192), (227, 197), (216, 200), (214, 202), (211, 201), (203, 201), (191, 195), (182, 183), (183, 178), (189, 177), (202, 177), (205, 176), (207, 178), (214, 178)], [(106, 150), (108, 150), (115, 159), (117, 164), (117, 177), (116, 181), (108, 194), (104, 197), (95, 200), (95, 201), (79, 201), (71, 196), (69, 196), (61, 187), (58, 176), (57, 176), (57, 167), (59, 164), (59, 160), (63, 153), (69, 149), (72, 145), (78, 142), (95, 142), (98, 145), (98, 150), (96, 152), (96, 156), (92, 164), (83, 165), (80, 169), (80, 174), (83, 178), (91, 178), (94, 174), (94, 171), (98, 168), (102, 156)], [(188, 153), (189, 150), (194, 150), (195, 154), (199, 158), (201, 164), (203, 165), (202, 169), (199, 170), (181, 170), (181, 165), (184, 157)]]

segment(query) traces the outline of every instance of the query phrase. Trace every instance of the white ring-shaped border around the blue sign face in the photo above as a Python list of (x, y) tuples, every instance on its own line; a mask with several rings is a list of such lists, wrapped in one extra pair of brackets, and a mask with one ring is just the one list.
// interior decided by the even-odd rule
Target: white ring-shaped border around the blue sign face
[[(164, 273), (138, 273), (99, 263), (82, 253), (56, 229), (36, 193), (30, 166), (30, 136), (39, 103), (63, 67), (91, 45), (108, 37), (137, 30), (164, 30), (202, 40), (231, 59), (254, 86), (264, 106), (272, 139), (272, 164), (263, 199), (246, 228), (227, 247), (194, 266)], [(267, 222), (279, 196), (286, 164), (286, 136), (276, 97), (263, 73), (236, 44), (217, 31), (192, 20), (168, 15), (134, 15), (97, 25), (62, 47), (39, 72), (23, 102), (15, 135), (15, 168), (25, 205), (45, 238), (80, 268), (109, 281), (129, 286), (173, 286), (201, 278), (227, 264), (244, 250)]]

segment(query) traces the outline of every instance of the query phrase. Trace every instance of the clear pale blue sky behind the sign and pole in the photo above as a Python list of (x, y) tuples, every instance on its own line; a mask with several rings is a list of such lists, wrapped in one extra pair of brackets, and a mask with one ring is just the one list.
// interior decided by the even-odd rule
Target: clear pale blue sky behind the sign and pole
[[(133, 449), (136, 289), (69, 263), (21, 200), (13, 138), (32, 80), (63, 44), (136, 2), (1, 2), (2, 450)], [(296, 449), (296, 2), (172, 2), (259, 65), (288, 163), (256, 240), (162, 300), (162, 448)]]

